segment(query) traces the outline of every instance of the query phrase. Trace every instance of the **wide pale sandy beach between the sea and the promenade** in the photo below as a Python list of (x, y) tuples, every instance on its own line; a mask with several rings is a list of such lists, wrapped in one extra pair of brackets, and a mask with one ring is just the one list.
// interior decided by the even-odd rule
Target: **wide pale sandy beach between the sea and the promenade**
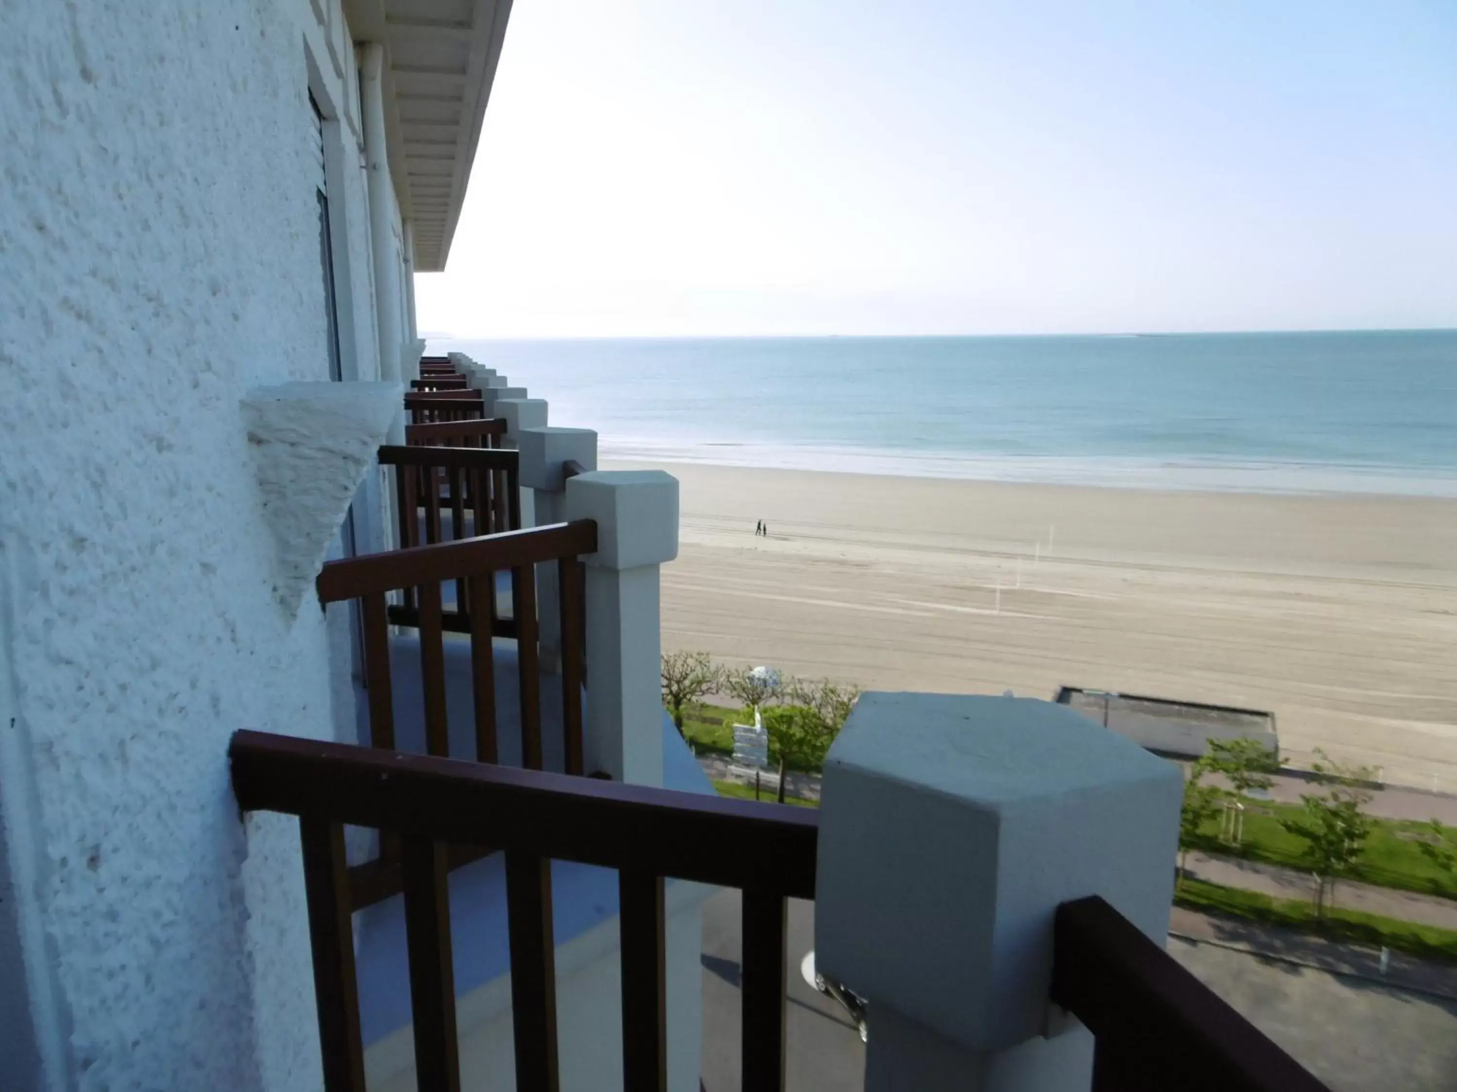
[(666, 648), (880, 690), (1253, 706), (1292, 764), (1324, 747), (1457, 791), (1457, 501), (666, 469)]

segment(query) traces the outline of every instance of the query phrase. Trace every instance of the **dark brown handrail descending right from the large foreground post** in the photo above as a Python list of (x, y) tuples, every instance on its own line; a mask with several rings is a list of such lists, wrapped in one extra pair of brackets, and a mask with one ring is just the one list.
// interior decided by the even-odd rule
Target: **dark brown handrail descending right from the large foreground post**
[(1058, 907), (1052, 1000), (1096, 1038), (1094, 1092), (1329, 1092), (1096, 895)]

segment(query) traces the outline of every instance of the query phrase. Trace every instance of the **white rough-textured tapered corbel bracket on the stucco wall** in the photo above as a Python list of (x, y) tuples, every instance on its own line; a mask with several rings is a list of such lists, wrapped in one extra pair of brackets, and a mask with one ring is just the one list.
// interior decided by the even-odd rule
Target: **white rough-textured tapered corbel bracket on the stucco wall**
[(401, 414), (402, 393), (399, 383), (284, 383), (243, 397), (264, 518), (274, 536), (274, 593), (290, 620)]

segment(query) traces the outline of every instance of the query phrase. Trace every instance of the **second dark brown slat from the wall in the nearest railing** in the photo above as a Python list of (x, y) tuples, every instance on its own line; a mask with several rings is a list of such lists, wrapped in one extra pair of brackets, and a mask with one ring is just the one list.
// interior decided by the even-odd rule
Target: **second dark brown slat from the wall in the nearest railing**
[(450, 891), (446, 847), (404, 839), (405, 943), (415, 1032), (415, 1086), (459, 1092), (455, 970), (450, 965)]

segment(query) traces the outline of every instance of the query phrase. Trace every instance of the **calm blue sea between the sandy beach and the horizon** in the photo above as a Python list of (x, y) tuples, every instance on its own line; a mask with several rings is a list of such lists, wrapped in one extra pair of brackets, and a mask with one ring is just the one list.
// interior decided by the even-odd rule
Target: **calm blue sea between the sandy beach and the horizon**
[(606, 457), (1457, 496), (1457, 331), (444, 341)]

